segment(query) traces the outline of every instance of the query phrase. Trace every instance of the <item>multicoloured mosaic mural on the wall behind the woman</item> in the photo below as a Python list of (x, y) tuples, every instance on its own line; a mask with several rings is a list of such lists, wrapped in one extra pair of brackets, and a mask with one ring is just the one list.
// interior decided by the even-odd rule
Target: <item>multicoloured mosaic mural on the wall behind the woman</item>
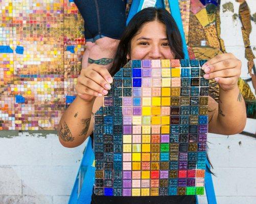
[[(220, 38), (220, 3), (179, 3), (190, 58), (210, 59), (225, 53)], [(252, 73), (252, 17), (246, 2), (240, 4), (237, 16), (243, 24), (248, 71)], [(83, 19), (72, 0), (0, 0), (0, 5), (0, 130), (56, 130), (76, 95), (85, 48)], [(223, 9), (230, 6), (223, 5)], [(239, 80), (239, 87), (248, 100), (248, 117), (256, 118), (255, 96), (244, 80)], [(210, 89), (218, 100), (218, 85), (211, 81)]]

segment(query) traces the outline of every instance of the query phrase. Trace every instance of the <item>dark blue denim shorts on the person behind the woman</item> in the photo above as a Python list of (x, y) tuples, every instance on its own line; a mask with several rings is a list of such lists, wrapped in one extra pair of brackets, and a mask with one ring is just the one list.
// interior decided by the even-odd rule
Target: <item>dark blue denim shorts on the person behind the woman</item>
[(126, 27), (127, 0), (74, 0), (84, 19), (86, 41), (120, 39)]

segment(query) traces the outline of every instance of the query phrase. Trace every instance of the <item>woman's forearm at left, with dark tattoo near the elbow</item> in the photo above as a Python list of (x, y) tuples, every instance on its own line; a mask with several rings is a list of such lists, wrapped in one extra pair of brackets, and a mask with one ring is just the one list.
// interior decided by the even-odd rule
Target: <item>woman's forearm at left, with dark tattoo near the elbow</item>
[(88, 137), (94, 100), (87, 102), (79, 96), (62, 115), (58, 125), (60, 143), (65, 147), (76, 147)]

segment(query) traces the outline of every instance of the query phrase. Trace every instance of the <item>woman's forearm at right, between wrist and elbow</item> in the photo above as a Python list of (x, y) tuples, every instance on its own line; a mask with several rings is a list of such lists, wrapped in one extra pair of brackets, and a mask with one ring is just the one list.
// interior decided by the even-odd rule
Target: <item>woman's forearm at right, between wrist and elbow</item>
[(220, 88), (217, 122), (221, 126), (222, 134), (232, 135), (243, 131), (246, 108), (238, 86), (229, 91)]

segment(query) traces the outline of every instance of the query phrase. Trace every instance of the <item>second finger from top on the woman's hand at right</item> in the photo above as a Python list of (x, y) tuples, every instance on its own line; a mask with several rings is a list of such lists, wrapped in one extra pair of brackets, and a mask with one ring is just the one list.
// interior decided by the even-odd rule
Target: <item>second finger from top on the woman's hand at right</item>
[(211, 73), (211, 72), (219, 71), (222, 69), (234, 68), (234, 67), (238, 66), (239, 64), (240, 64), (240, 60), (234, 60), (234, 59), (222, 60), (215, 64), (208, 65), (207, 67), (204, 68), (204, 72)]

